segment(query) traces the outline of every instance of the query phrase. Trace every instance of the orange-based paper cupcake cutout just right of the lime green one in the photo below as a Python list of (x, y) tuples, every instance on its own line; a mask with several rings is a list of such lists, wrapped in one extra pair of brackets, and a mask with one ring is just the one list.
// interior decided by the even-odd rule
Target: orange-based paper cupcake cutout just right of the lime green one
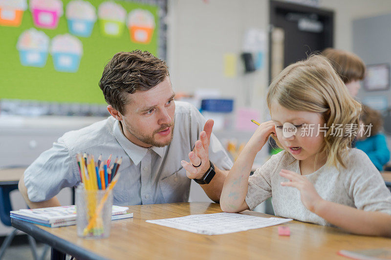
[(128, 28), (130, 40), (139, 43), (150, 43), (155, 29), (155, 19), (150, 11), (135, 9), (129, 13)]

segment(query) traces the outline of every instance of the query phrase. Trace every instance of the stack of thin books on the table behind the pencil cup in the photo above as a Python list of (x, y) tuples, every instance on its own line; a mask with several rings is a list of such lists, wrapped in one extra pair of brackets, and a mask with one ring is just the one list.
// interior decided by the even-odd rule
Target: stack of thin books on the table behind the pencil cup
[[(111, 220), (132, 218), (133, 213), (126, 213), (128, 207), (112, 206)], [(10, 212), (13, 219), (24, 220), (46, 227), (62, 227), (76, 224), (76, 206), (60, 206), (39, 209), (20, 209)]]

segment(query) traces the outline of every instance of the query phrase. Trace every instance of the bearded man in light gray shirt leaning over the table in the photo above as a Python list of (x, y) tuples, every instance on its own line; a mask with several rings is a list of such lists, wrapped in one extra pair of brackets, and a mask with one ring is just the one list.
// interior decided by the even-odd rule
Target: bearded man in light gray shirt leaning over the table
[(116, 205), (187, 201), (191, 179), (219, 200), (232, 161), (212, 134), (213, 120), (205, 123), (194, 106), (174, 101), (163, 60), (117, 53), (99, 85), (111, 117), (65, 133), (26, 169), (19, 190), (31, 208), (59, 206), (55, 195), (80, 183), (77, 153), (123, 158)]

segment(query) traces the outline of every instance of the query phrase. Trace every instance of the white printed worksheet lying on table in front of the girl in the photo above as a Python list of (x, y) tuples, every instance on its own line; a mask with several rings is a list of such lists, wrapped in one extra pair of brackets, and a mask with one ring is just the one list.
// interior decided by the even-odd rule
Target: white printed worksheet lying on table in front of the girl
[(292, 219), (262, 218), (239, 213), (222, 212), (146, 221), (149, 223), (173, 227), (198, 234), (221, 235), (249, 229), (274, 226), (291, 220)]

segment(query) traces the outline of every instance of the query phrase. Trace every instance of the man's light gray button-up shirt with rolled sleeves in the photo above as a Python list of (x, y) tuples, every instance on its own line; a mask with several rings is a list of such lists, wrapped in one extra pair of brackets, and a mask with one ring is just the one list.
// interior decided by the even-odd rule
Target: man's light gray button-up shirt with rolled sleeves
[[(144, 148), (130, 142), (119, 121), (113, 117), (64, 134), (43, 152), (24, 172), (28, 198), (49, 200), (64, 187), (80, 183), (77, 153), (97, 158), (102, 154), (122, 157), (120, 179), (113, 189), (115, 205), (139, 205), (188, 201), (190, 182), (181, 160), (199, 139), (205, 119), (189, 103), (175, 101), (175, 126), (172, 142), (165, 147)], [(232, 161), (212, 134), (209, 159), (220, 169), (229, 170)]]

